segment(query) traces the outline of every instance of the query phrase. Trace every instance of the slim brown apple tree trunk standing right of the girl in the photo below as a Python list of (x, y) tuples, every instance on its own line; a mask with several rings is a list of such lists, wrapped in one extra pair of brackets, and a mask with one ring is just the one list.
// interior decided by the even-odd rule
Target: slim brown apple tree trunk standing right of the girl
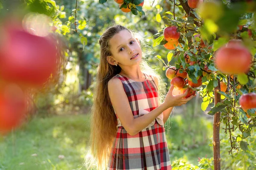
[[(220, 80), (218, 86), (214, 89), (214, 105), (221, 102), (221, 95), (217, 92), (221, 90)], [(221, 153), (220, 153), (220, 117), (221, 113), (215, 113), (213, 117), (213, 161), (214, 170), (221, 170)]]

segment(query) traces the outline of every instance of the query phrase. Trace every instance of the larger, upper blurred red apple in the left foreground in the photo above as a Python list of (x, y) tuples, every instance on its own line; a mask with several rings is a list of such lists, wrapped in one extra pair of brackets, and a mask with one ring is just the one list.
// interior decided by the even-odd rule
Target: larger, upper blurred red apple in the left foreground
[(0, 77), (29, 87), (44, 84), (57, 68), (57, 47), (53, 38), (40, 37), (22, 28), (1, 30)]

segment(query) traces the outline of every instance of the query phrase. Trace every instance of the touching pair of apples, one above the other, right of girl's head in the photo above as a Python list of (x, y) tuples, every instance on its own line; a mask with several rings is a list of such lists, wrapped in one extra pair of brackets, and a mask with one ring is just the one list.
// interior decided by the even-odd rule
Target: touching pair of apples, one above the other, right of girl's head
[(168, 41), (163, 46), (168, 50), (173, 50), (179, 45), (180, 32), (177, 31), (176, 26), (169, 26), (164, 28), (163, 37)]

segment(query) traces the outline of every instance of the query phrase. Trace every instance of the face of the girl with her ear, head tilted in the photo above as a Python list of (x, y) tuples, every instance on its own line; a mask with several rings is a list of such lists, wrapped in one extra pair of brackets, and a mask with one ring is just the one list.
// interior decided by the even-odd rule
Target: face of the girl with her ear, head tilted
[(111, 65), (116, 63), (122, 67), (140, 63), (142, 59), (140, 42), (128, 30), (115, 34), (109, 43), (112, 56), (108, 56), (108, 62)]

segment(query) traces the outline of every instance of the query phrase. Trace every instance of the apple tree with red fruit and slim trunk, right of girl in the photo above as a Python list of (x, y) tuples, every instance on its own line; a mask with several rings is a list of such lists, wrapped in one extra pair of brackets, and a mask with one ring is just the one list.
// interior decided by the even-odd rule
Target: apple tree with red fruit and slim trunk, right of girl
[[(162, 18), (166, 27), (153, 37), (154, 45), (169, 50), (164, 63), (175, 94), (198, 91), (213, 119), (214, 167), (221, 169), (221, 123), (230, 151), (246, 151), (256, 127), (256, 3), (253, 1), (169, 1), (172, 10)], [(178, 10), (175, 10), (175, 8)], [(176, 58), (175, 65), (169, 62)]]

